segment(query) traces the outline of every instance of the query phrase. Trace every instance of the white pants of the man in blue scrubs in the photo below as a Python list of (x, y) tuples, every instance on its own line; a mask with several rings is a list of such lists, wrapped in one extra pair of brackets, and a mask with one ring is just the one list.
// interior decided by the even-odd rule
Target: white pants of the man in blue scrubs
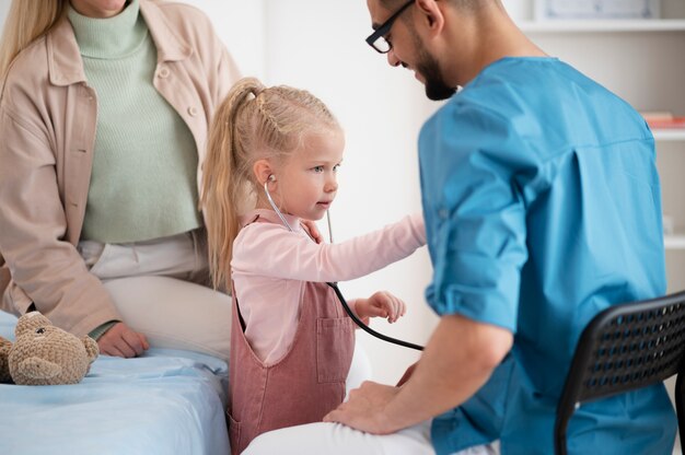
[[(243, 455), (432, 455), (430, 421), (393, 434), (375, 435), (340, 423), (310, 423), (257, 436)], [(479, 445), (458, 455), (496, 455), (499, 444)]]

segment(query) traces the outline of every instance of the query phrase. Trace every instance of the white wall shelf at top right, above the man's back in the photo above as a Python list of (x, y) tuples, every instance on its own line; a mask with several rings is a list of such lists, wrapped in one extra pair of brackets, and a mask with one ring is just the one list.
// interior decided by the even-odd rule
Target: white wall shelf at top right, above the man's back
[(526, 33), (685, 32), (685, 20), (544, 20), (522, 21), (519, 23), (519, 27)]

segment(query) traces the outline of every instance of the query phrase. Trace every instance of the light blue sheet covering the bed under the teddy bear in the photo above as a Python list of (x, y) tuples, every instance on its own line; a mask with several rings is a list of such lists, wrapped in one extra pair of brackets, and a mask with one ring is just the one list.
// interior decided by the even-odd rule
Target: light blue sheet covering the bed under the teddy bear
[[(15, 323), (0, 312), (0, 335)], [(151, 349), (101, 355), (76, 385), (0, 384), (0, 454), (229, 454), (227, 382), (222, 360)]]

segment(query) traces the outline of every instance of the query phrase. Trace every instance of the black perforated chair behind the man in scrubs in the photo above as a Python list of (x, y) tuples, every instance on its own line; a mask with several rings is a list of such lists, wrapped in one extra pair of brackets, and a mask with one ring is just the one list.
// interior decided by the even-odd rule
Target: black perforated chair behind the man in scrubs
[[(566, 455), (566, 429), (582, 402), (662, 382), (677, 374), (675, 401), (685, 454), (685, 291), (611, 306), (588, 324), (557, 407), (555, 450)], [(597, 447), (600, 450), (601, 447)]]

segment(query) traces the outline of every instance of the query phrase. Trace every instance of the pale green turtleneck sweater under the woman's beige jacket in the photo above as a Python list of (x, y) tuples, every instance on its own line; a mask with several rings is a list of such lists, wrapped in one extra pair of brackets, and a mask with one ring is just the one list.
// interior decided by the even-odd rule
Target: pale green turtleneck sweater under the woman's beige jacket
[(190, 231), (197, 211), (197, 150), (181, 116), (152, 85), (156, 48), (132, 0), (93, 19), (69, 7), (97, 132), (82, 240), (129, 243)]

